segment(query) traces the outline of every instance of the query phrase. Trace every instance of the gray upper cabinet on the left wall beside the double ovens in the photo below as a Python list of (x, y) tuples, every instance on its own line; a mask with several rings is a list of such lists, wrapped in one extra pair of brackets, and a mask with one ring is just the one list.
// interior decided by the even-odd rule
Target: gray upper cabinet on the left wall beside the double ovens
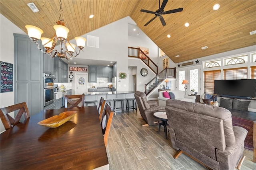
[(67, 83), (68, 82), (68, 64), (59, 58), (54, 58), (54, 75), (56, 83)]

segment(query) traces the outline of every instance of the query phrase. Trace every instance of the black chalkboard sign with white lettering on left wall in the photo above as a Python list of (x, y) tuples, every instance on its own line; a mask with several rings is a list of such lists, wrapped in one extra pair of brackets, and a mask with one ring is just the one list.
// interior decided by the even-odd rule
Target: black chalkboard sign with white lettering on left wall
[(1, 93), (13, 91), (13, 64), (1, 63)]

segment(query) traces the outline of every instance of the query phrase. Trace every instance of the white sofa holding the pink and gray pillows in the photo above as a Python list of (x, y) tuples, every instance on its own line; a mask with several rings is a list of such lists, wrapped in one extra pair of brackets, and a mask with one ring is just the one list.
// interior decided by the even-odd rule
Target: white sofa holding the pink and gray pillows
[[(165, 91), (158, 92), (158, 105), (159, 106), (165, 106), (166, 100), (168, 100), (168, 98), (164, 97), (163, 92), (165, 92)], [(176, 100), (181, 100), (181, 101), (185, 101), (185, 102), (193, 102), (193, 103), (196, 102), (196, 96), (185, 95), (185, 91), (173, 90), (173, 91), (167, 91), (167, 92), (172, 92), (175, 95)]]

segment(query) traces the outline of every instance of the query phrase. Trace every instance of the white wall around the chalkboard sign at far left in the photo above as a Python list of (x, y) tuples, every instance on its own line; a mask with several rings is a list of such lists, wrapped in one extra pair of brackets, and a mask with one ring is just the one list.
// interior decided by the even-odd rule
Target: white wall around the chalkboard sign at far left
[[(0, 61), (14, 63), (14, 37), (13, 33), (26, 34), (11, 21), (0, 14)], [(14, 84), (13, 84), (14, 85)], [(15, 89), (15, 88), (13, 88)], [(0, 108), (14, 104), (14, 92), (0, 93)], [(4, 131), (2, 121), (0, 132)]]

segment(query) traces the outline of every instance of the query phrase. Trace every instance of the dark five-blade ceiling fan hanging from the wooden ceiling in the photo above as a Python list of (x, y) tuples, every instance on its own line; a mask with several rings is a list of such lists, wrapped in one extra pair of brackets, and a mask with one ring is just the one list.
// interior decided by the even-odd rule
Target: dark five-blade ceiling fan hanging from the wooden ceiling
[(168, 2), (168, 0), (163, 0), (161, 8), (160, 8), (160, 0), (159, 0), (159, 9), (156, 10), (156, 12), (148, 11), (148, 10), (140, 10), (140, 12), (146, 12), (146, 13), (156, 15), (154, 18), (152, 18), (150, 21), (148, 21), (144, 26), (147, 26), (150, 22), (152, 22), (154, 19), (156, 19), (156, 17), (159, 17), (162, 25), (165, 26), (166, 23), (165, 23), (164, 18), (162, 17), (162, 15), (172, 14), (172, 13), (176, 13), (176, 12), (182, 12), (183, 8), (178, 8), (178, 9), (175, 9), (175, 10), (169, 10), (169, 11), (164, 12), (164, 7), (166, 6), (167, 2)]

